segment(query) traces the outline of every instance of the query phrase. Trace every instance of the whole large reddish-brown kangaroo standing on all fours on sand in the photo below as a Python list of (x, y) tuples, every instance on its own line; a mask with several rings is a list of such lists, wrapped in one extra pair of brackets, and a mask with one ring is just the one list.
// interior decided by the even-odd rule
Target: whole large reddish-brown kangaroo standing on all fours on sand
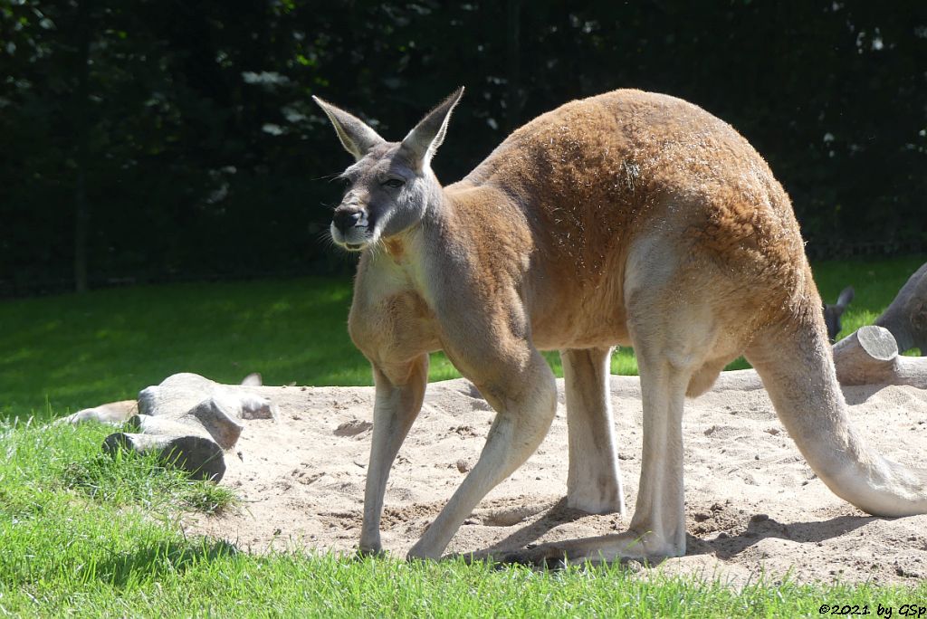
[(376, 382), (361, 550), (381, 548), (389, 469), (438, 349), (498, 414), (411, 557), (439, 557), (540, 444), (557, 401), (545, 349), (564, 360), (567, 504), (625, 510), (608, 394), (615, 346), (634, 347), (641, 373), (641, 480), (626, 532), (516, 560), (683, 554), (683, 402), (742, 353), (833, 492), (873, 514), (927, 512), (927, 473), (883, 459), (850, 426), (789, 198), (730, 125), (671, 96), (619, 90), (532, 120), (442, 187), (429, 164), (461, 95), (401, 142), (316, 99), (355, 158), (331, 234), (361, 252), (349, 332)]

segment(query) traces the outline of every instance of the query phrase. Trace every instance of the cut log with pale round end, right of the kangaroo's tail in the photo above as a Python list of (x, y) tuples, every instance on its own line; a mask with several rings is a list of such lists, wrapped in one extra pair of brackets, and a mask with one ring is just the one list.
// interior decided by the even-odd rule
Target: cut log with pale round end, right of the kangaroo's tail
[(913, 385), (927, 388), (927, 358), (898, 354), (895, 337), (881, 326), (861, 327), (833, 346), (842, 385)]

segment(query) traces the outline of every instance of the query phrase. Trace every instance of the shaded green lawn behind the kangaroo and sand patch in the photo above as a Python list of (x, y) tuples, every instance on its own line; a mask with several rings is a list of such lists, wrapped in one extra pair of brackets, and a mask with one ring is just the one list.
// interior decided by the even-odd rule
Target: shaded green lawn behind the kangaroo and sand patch
[[(853, 284), (847, 335), (872, 322), (925, 257), (815, 265), (831, 302)], [(369, 385), (367, 361), (347, 333), (350, 281), (300, 279), (139, 286), (0, 302), (0, 418), (48, 418), (134, 398), (177, 372), (225, 383), (260, 372), (268, 385)], [(556, 353), (547, 353), (562, 375)], [(746, 367), (743, 360), (730, 368)], [(637, 373), (620, 349), (612, 372)], [(432, 381), (459, 374), (432, 356)]]

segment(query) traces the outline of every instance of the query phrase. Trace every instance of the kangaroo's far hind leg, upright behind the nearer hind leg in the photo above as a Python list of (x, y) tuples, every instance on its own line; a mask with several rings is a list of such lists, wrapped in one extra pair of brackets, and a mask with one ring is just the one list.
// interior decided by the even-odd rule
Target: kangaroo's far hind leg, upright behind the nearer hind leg
[(569, 473), (566, 504), (590, 513), (625, 513), (609, 398), (611, 348), (564, 350)]

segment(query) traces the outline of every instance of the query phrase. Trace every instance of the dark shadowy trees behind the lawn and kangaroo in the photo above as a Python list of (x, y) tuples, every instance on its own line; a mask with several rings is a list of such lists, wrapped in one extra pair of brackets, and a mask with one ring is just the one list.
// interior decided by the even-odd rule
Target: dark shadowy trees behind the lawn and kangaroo
[(445, 182), (637, 87), (743, 133), (813, 257), (927, 248), (922, 0), (0, 0), (0, 295), (349, 269), (311, 95), (400, 139), (461, 84)]

